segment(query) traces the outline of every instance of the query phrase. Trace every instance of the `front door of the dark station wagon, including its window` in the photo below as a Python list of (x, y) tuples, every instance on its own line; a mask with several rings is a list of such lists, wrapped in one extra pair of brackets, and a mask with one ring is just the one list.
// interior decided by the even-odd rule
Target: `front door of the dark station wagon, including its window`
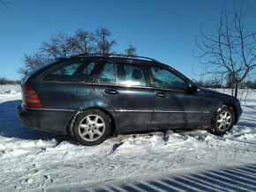
[(152, 125), (156, 129), (166, 129), (199, 123), (204, 106), (200, 93), (187, 93), (188, 82), (168, 68), (151, 66), (150, 73), (154, 86)]

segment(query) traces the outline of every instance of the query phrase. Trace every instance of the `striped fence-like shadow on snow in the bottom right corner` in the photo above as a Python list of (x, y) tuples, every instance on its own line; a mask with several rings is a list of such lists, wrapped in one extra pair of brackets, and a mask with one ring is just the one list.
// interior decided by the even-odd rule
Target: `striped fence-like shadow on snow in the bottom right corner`
[(256, 164), (224, 167), (195, 174), (170, 175), (95, 191), (255, 191)]

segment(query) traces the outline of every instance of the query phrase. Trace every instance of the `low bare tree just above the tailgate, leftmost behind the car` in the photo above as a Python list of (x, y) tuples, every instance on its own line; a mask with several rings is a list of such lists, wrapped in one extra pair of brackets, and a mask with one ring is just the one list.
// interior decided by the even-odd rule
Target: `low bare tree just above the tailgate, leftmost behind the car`
[(20, 67), (17, 72), (21, 75), (27, 75), (29, 71), (38, 68), (49, 60), (44, 55), (35, 53), (33, 55), (24, 55), (23, 57), (23, 67)]

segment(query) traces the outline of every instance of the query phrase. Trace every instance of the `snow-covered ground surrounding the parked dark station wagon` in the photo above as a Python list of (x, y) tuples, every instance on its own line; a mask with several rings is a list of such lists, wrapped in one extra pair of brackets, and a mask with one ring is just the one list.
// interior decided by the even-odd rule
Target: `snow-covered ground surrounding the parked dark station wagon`
[[(219, 90), (222, 91), (222, 90)], [(123, 135), (85, 147), (19, 123), (18, 85), (0, 85), (0, 191), (256, 190), (256, 93), (229, 133)]]

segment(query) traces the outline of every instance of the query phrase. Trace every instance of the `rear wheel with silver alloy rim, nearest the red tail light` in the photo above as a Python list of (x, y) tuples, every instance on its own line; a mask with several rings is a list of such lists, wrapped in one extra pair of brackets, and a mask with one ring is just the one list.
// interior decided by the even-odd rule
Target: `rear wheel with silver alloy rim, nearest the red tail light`
[(102, 144), (110, 133), (109, 116), (99, 109), (88, 109), (78, 115), (73, 127), (72, 136), (82, 145)]

